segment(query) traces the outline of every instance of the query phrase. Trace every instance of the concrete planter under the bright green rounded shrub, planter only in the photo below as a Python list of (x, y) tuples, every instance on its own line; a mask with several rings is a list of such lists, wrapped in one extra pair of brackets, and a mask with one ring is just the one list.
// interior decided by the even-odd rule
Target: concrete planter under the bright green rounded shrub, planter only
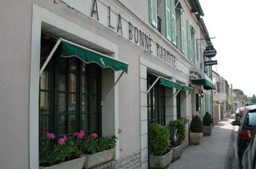
[(150, 168), (165, 168), (173, 160), (173, 150), (167, 152), (163, 156), (156, 156), (149, 154), (149, 167)]

